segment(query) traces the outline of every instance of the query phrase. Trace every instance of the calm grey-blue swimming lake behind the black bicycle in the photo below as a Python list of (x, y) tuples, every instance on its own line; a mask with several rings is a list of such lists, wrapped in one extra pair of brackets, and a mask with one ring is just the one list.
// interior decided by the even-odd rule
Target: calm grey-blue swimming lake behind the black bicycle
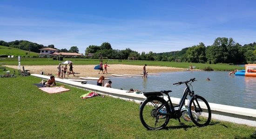
[[(206, 78), (211, 81), (206, 81)], [(193, 82), (195, 94), (203, 96), (208, 102), (256, 109), (256, 77), (229, 76), (226, 71), (183, 71), (162, 73), (161, 76), (111, 77), (112, 88), (139, 89), (143, 92), (172, 90), (172, 97), (181, 98), (185, 85), (173, 83), (196, 78)], [(106, 80), (108, 82), (108, 80)], [(96, 84), (96, 81), (89, 81)]]

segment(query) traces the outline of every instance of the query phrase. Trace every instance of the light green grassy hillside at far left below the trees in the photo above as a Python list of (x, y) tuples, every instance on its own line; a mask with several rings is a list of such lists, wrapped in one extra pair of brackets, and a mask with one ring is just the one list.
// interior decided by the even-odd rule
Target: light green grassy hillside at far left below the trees
[(18, 48), (12, 48), (12, 47), (7, 47), (7, 46), (1, 46), (0, 45), (0, 55), (10, 55), (10, 56), (38, 56), (37, 53), (35, 52), (29, 52), (25, 50), (21, 50)]

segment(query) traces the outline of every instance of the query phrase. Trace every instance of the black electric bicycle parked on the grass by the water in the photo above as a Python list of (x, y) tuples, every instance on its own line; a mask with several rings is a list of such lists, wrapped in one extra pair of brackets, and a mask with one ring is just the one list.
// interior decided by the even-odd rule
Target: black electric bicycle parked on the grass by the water
[[(181, 122), (182, 107), (189, 95), (191, 98), (188, 103), (188, 118), (191, 119), (196, 126), (207, 126), (211, 120), (211, 109), (208, 102), (199, 95), (195, 95), (192, 82), (195, 78), (185, 82), (177, 82), (173, 85), (185, 84), (186, 88), (183, 92), (182, 98), (177, 106), (173, 106), (169, 93), (171, 90), (162, 90), (160, 92), (144, 92), (143, 95), (147, 97), (141, 103), (140, 120), (143, 126), (148, 130), (158, 130), (167, 126), (169, 120), (178, 119)], [(190, 90), (190, 87), (192, 90)], [(163, 95), (168, 96), (168, 101), (164, 100)]]

